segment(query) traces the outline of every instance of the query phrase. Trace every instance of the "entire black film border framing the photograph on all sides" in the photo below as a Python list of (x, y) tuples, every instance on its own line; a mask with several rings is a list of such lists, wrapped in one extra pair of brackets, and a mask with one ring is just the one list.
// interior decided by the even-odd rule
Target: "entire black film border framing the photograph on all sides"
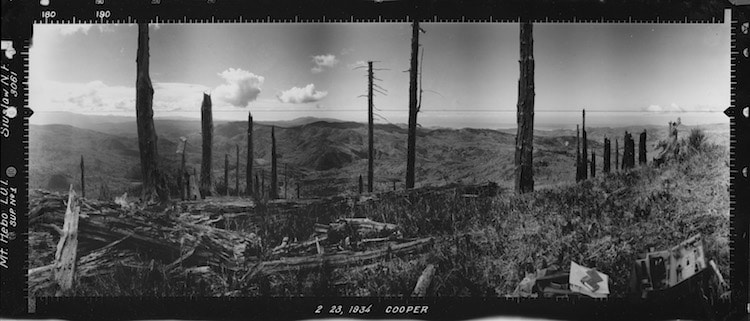
[[(432, 1), (255, 1), (248, 4), (239, 0), (87, 0), (59, 1), (40, 0), (38, 3), (20, 1), (3, 2), (3, 40), (10, 39), (11, 46), (3, 44), (3, 89), (5, 79), (15, 83), (17, 89), (8, 100), (3, 100), (3, 128), (8, 128), (9, 137), (3, 135), (2, 180), (7, 190), (15, 189), (15, 207), (3, 205), (3, 213), (25, 212), (28, 206), (28, 49), (33, 23), (129, 23), (149, 21), (158, 23), (293, 23), (293, 22), (408, 22), (419, 14), (420, 19), (434, 22), (512, 22), (530, 19), (537, 22), (622, 22), (622, 23), (721, 23), (723, 10), (733, 9), (732, 18), (732, 106), (727, 109), (731, 117), (731, 242), (732, 242), (732, 306), (735, 315), (750, 311), (748, 304), (748, 221), (750, 212), (750, 183), (748, 164), (750, 163), (750, 120), (747, 106), (750, 105), (750, 59), (747, 49), (750, 37), (747, 22), (750, 18), (748, 7), (737, 7), (725, 1), (570, 1), (547, 3), (541, 1), (523, 2), (477, 1), (467, 5), (460, 0)], [(45, 13), (46, 12), (46, 13)], [(53, 13), (54, 12), (54, 13)], [(46, 16), (45, 16), (46, 15)], [(744, 29), (743, 29), (744, 28)], [(20, 48), (20, 50), (19, 50)], [(8, 53), (20, 55), (10, 58)], [(19, 77), (20, 76), (20, 77)], [(8, 82), (8, 88), (13, 90)], [(5, 97), (3, 97), (5, 98)], [(15, 109), (10, 109), (14, 107)], [(14, 110), (14, 112), (8, 112)], [(10, 117), (14, 114), (14, 117)], [(22, 117), (21, 117), (22, 116)], [(8, 121), (6, 122), (6, 118)], [(20, 121), (19, 121), (20, 120)], [(6, 125), (7, 124), (7, 125)], [(7, 126), (7, 127), (6, 127)], [(5, 129), (3, 129), (5, 130)], [(10, 165), (9, 165), (10, 164)], [(11, 169), (11, 167), (13, 169)], [(19, 169), (22, 169), (20, 171)], [(6, 183), (3, 183), (6, 182)], [(0, 186), (2, 187), (2, 186)], [(10, 199), (10, 198), (8, 198)], [(21, 215), (22, 216), (22, 215)], [(26, 247), (27, 222), (17, 219), (12, 233), (8, 233), (10, 253), (8, 262), (19, 264), (21, 269), (3, 271), (2, 307), (3, 314), (22, 315), (27, 311), (26, 294)], [(4, 247), (5, 248), (5, 247)], [(192, 304), (191, 304), (192, 302)], [(241, 317), (267, 316), (277, 318), (311, 317), (316, 307), (330, 302), (345, 305), (374, 305), (369, 317), (388, 317), (386, 309), (398, 306), (429, 305), (431, 315), (441, 318), (468, 318), (502, 314), (535, 314), (547, 316), (569, 315), (596, 317), (605, 315), (642, 316), (644, 313), (659, 317), (663, 306), (639, 306), (640, 311), (632, 311), (632, 303), (627, 300), (591, 300), (575, 304), (560, 304), (559, 300), (504, 300), (504, 299), (440, 299), (409, 300), (389, 298), (365, 299), (144, 299), (132, 298), (123, 302), (115, 299), (58, 299), (48, 298), (40, 303), (47, 307), (48, 316), (79, 315), (79, 311), (95, 311), (101, 315), (120, 317), (142, 317), (145, 311), (163, 311), (170, 317)], [(326, 309), (329, 306), (325, 307)], [(543, 311), (543, 312), (542, 312)], [(94, 312), (96, 313), (96, 312)], [(208, 314), (206, 314), (208, 313)], [(218, 314), (217, 314), (218, 313)], [(436, 314), (434, 314), (436, 313)], [(687, 315), (691, 315), (686, 311)], [(417, 316), (417, 315), (413, 315)], [(667, 316), (664, 317), (674, 317)]]

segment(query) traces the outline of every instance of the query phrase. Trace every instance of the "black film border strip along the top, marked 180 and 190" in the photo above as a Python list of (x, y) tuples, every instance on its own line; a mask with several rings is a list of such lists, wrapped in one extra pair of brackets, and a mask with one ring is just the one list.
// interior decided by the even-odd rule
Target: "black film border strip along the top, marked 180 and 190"
[[(738, 0), (739, 1), (739, 0)], [(720, 23), (726, 0), (34, 0), (6, 1), (3, 26), (28, 38), (38, 23), (627, 22)], [(8, 21), (5, 21), (8, 20)], [(8, 28), (3, 28), (8, 29)], [(4, 31), (5, 32), (5, 31)]]

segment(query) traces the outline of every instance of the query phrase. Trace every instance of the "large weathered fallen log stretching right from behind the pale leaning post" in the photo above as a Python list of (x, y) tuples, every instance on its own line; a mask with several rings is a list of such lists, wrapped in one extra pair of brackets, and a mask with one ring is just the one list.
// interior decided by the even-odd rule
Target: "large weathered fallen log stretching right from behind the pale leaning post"
[[(88, 202), (96, 210), (82, 210), (78, 226), (79, 253), (129, 236), (121, 247), (147, 254), (165, 262), (174, 262), (185, 249), (195, 249), (184, 265), (217, 265), (238, 268), (260, 252), (260, 238), (255, 234), (194, 224), (191, 219), (175, 217), (168, 212), (122, 209), (111, 202)], [(52, 193), (32, 193), (30, 229), (57, 233), (49, 224), (61, 226), (64, 218), (63, 197)], [(204, 222), (206, 223), (206, 222)], [(53, 235), (55, 235), (53, 234)]]

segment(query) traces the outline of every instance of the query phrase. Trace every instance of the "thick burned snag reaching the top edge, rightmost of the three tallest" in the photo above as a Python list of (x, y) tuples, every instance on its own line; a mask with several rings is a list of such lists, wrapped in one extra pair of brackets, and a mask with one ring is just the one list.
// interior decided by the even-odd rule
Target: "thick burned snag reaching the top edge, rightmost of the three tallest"
[(534, 36), (531, 22), (521, 22), (520, 77), (516, 133), (516, 193), (534, 191)]

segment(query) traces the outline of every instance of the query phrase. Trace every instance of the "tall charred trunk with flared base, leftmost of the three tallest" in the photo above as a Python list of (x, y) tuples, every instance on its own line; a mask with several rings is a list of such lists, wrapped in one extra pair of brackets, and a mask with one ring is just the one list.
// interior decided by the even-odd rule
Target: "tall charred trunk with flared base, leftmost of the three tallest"
[(159, 172), (159, 153), (156, 148), (156, 129), (154, 128), (154, 87), (149, 76), (148, 24), (138, 24), (138, 52), (136, 56), (135, 113), (138, 127), (138, 150), (141, 156), (141, 176), (143, 188), (141, 198), (144, 201), (158, 199), (164, 202), (169, 199), (166, 184)]

